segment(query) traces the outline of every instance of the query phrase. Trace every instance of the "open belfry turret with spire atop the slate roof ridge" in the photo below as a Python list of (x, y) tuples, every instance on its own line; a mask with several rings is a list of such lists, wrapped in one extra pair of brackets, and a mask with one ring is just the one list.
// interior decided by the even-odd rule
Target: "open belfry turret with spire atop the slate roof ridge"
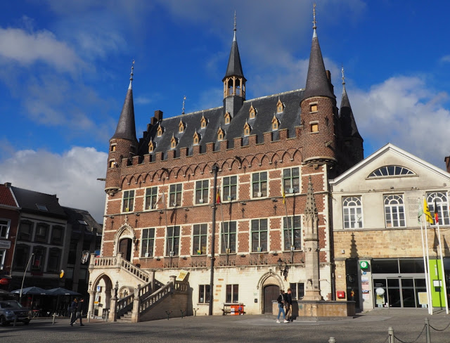
[(234, 14), (234, 35), (233, 43), (231, 44), (230, 57), (226, 73), (222, 82), (224, 82), (224, 114), (229, 112), (231, 117), (242, 107), (245, 101), (245, 82), (240, 64), (240, 56), (238, 49), (238, 41), (236, 40), (236, 13)]

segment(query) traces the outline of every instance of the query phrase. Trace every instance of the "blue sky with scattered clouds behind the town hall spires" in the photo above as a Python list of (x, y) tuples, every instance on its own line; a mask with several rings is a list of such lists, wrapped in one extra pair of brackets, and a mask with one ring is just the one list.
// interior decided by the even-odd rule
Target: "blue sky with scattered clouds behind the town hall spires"
[[(0, 4), (0, 183), (56, 194), (103, 223), (108, 142), (134, 64), (136, 134), (222, 105), (236, 11), (247, 99), (304, 88), (309, 0), (17, 0)], [(338, 105), (341, 67), (367, 157), (393, 143), (445, 168), (448, 1), (316, 1)]]

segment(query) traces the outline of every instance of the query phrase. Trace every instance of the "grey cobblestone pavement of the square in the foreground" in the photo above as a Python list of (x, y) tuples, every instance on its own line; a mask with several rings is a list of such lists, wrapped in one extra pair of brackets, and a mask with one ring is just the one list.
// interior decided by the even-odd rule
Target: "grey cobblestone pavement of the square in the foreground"
[(110, 323), (92, 320), (70, 327), (68, 318), (33, 319), (30, 325), (0, 328), (1, 343), (30, 342), (311, 342), (385, 343), (388, 328), (394, 342), (427, 342), (425, 318), (430, 321), (431, 343), (450, 342), (450, 315), (423, 309), (375, 309), (355, 318), (315, 320), (298, 318), (276, 323), (275, 316), (191, 316), (143, 323)]

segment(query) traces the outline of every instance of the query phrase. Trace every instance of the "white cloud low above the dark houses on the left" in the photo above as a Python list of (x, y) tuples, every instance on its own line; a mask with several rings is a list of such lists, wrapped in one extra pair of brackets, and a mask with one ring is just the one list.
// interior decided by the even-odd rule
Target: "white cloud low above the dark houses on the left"
[(56, 194), (60, 205), (85, 209), (103, 224), (108, 155), (94, 148), (74, 147), (62, 155), (46, 150), (20, 150), (0, 162), (1, 183)]

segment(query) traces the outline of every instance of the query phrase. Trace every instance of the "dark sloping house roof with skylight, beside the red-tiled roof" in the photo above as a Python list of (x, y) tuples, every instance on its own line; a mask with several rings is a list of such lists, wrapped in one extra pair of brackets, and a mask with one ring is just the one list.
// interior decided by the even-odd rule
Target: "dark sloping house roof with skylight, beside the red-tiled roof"
[[(11, 190), (13, 190), (15, 199), (17, 200), (18, 205), (22, 207), (23, 212), (59, 216), (60, 218), (66, 217), (63, 207), (59, 205), (56, 195), (34, 192), (34, 190), (27, 190), (14, 186), (11, 186)], [(38, 209), (37, 205), (44, 205), (48, 211)]]

